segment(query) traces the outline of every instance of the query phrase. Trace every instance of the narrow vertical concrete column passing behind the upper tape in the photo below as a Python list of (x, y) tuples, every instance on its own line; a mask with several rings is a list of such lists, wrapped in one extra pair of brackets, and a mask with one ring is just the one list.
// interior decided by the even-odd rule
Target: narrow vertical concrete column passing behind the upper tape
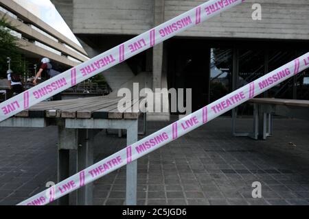
[[(164, 22), (164, 1), (155, 0), (154, 21), (155, 26)], [(153, 48), (153, 89), (161, 88), (162, 77), (162, 64), (163, 64), (163, 43), (158, 44)]]

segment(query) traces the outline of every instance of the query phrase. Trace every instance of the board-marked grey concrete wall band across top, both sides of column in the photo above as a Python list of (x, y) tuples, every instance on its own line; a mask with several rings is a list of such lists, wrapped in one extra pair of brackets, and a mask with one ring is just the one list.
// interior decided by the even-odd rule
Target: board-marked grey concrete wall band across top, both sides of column
[[(53, 0), (54, 3), (58, 1), (60, 0)], [(65, 0), (65, 3), (59, 3), (57, 8), (68, 23), (73, 19), (73, 32), (76, 34), (141, 34), (156, 23), (156, 1)], [(163, 3), (164, 21), (204, 2), (159, 1)], [(253, 3), (262, 5), (262, 21), (252, 20)], [(308, 0), (247, 0), (180, 36), (309, 40), (308, 10)], [(71, 14), (73, 18), (70, 17)]]

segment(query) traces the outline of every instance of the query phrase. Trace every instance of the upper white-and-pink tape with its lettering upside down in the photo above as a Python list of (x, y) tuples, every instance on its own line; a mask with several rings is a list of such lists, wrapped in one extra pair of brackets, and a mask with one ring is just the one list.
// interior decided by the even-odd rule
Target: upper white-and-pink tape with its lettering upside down
[[(0, 122), (194, 27), (244, 0), (210, 0), (0, 104)], [(194, 22), (195, 21), (195, 22)]]

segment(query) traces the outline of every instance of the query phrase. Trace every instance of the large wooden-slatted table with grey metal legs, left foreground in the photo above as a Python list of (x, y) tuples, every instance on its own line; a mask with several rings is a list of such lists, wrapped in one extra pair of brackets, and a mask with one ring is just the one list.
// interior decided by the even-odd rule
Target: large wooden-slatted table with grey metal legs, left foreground
[[(49, 101), (34, 105), (0, 123), (0, 127), (43, 128), (58, 127), (58, 182), (69, 177), (69, 151), (77, 151), (77, 170), (93, 164), (95, 135), (102, 129), (126, 129), (127, 144), (137, 142), (138, 120), (141, 115), (136, 105), (143, 99), (127, 99), (124, 112), (119, 112), (120, 98), (95, 96), (84, 99)], [(144, 114), (144, 130), (146, 114)], [(137, 161), (126, 166), (126, 205), (137, 203)], [(59, 205), (69, 205), (69, 195), (59, 199)], [(93, 204), (93, 185), (77, 191), (77, 205)]]

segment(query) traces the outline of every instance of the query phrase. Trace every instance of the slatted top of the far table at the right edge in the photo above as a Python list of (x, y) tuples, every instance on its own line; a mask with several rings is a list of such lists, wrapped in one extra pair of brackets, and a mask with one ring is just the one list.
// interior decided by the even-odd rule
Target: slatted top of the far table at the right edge
[(293, 99), (274, 99), (274, 98), (255, 98), (249, 101), (250, 103), (269, 103), (276, 105), (290, 105), (297, 107), (309, 107), (309, 101), (293, 100)]

